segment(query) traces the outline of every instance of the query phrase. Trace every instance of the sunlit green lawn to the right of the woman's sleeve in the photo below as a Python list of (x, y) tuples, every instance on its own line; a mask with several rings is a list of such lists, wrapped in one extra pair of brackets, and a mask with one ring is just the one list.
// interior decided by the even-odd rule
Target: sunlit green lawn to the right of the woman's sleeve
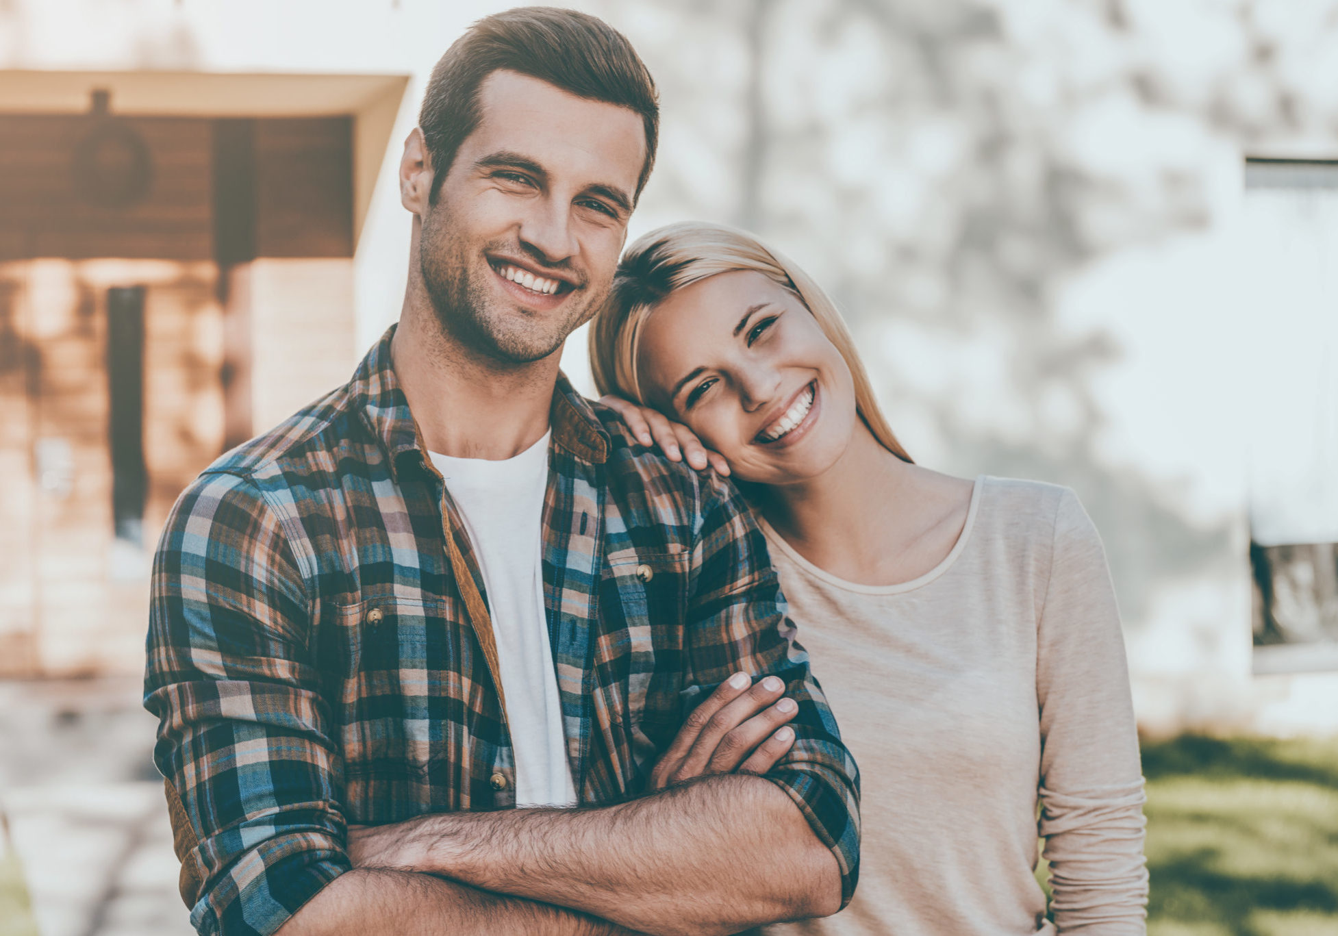
[(1338, 933), (1338, 741), (1143, 745), (1149, 936)]

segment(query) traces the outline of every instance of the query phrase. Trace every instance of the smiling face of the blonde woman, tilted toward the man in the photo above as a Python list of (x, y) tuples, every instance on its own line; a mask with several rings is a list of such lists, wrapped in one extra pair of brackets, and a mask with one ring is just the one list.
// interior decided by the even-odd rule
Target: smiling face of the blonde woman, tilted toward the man
[(646, 401), (747, 481), (816, 477), (844, 453), (858, 420), (840, 352), (799, 297), (752, 270), (664, 298), (642, 325), (637, 368)]

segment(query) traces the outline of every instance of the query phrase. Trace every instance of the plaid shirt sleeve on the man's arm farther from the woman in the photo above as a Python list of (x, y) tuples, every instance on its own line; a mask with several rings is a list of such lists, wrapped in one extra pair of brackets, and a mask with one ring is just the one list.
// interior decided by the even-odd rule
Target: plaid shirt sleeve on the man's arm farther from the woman
[(268, 936), (349, 869), (310, 615), (262, 492), (202, 475), (154, 559), (145, 677), (182, 899), (199, 933)]

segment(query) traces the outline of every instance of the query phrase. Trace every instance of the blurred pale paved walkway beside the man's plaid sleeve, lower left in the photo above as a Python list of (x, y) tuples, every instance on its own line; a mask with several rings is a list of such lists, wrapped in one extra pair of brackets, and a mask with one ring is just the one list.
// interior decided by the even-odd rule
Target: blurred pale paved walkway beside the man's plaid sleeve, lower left
[(0, 812), (41, 936), (190, 936), (138, 679), (0, 681)]

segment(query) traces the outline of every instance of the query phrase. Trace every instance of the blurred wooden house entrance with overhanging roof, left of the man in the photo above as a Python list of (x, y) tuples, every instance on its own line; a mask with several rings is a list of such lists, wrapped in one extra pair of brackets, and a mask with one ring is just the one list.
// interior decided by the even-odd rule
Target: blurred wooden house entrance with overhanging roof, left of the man
[(348, 378), (353, 154), (403, 90), (0, 72), (0, 673), (139, 669), (177, 495)]

